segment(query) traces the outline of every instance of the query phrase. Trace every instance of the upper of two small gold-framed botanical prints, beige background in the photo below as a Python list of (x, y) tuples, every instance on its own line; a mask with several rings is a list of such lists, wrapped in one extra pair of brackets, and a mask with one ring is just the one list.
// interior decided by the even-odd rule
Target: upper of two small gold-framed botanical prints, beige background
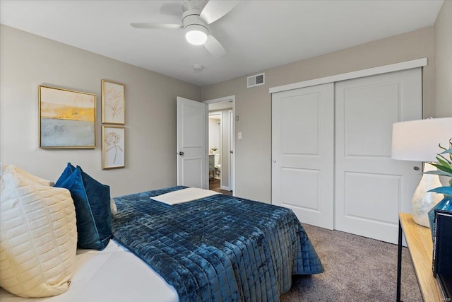
[(126, 86), (102, 80), (102, 124), (126, 124)]

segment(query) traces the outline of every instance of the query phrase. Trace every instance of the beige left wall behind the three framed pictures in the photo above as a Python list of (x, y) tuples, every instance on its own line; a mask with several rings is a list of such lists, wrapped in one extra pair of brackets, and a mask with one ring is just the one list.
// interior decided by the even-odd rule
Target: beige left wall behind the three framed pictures
[[(176, 185), (176, 97), (201, 88), (37, 35), (0, 28), (0, 161), (57, 180), (70, 161), (112, 196)], [(126, 168), (102, 170), (100, 81), (126, 85)], [(39, 149), (37, 86), (97, 95), (97, 147)]]

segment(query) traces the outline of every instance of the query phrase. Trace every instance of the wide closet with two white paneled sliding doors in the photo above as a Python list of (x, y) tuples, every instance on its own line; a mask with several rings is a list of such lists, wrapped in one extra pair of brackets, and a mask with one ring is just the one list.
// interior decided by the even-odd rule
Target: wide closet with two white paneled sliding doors
[(420, 67), (272, 93), (272, 203), (396, 243), (422, 165), (391, 159), (392, 124), (421, 118)]

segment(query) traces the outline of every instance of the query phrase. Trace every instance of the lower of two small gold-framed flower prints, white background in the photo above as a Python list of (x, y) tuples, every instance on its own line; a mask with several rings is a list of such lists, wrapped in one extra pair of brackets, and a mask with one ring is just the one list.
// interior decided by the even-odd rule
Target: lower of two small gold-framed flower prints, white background
[(102, 170), (124, 168), (125, 127), (102, 125)]

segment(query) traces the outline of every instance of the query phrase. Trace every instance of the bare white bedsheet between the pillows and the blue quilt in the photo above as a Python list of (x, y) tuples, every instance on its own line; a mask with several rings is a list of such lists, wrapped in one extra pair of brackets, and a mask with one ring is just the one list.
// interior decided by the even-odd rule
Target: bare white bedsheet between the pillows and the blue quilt
[(49, 298), (21, 298), (0, 288), (1, 302), (178, 302), (174, 287), (129, 250), (110, 240), (107, 248), (77, 250), (71, 286)]

